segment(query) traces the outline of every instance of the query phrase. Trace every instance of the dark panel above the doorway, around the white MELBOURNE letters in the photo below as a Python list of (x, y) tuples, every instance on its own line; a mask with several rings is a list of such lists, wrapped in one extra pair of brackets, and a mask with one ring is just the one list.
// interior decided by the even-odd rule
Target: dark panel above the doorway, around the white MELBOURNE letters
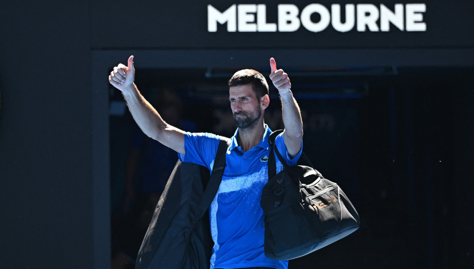
[[(180, 0), (94, 2), (91, 10), (91, 45), (94, 48), (402, 48), (472, 46), (469, 35), (474, 24), (472, 1), (429, 0)], [(331, 12), (331, 4), (384, 4), (394, 9), (396, 3), (425, 3), (426, 12), (419, 13), (426, 23), (426, 31), (401, 31), (393, 25), (390, 31), (338, 32), (330, 24), (321, 32), (310, 32), (302, 25), (295, 32), (227, 32), (227, 25), (218, 25), (217, 32), (208, 32), (208, 5), (224, 12), (233, 4), (266, 4), (266, 22), (278, 20), (278, 4), (294, 4), (301, 11), (311, 3), (320, 3)], [(127, 7), (123, 9), (122, 7)], [(251, 13), (255, 14), (255, 13)], [(345, 17), (343, 17), (345, 18)], [(314, 22), (319, 20), (313, 15)], [(120, 25), (127, 38), (112, 31)], [(380, 27), (380, 24), (379, 24)], [(139, 44), (137, 44), (139, 40)]]

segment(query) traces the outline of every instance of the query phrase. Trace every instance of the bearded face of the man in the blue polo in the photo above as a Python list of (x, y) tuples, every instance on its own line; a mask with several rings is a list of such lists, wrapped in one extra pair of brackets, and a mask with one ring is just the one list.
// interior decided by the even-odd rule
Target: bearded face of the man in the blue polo
[(230, 87), (229, 100), (237, 127), (246, 129), (255, 126), (262, 110), (252, 85)]

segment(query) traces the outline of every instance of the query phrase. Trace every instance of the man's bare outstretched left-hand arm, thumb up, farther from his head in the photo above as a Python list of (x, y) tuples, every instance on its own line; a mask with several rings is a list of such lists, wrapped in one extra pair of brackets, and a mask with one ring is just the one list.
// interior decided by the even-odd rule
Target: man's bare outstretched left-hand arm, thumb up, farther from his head
[(109, 75), (109, 82), (120, 90), (127, 102), (128, 109), (133, 119), (137, 122), (145, 135), (172, 148), (181, 154), (184, 150), (184, 131), (167, 124), (156, 112), (155, 108), (140, 94), (135, 80), (133, 56), (128, 58), (128, 66), (118, 64)]

